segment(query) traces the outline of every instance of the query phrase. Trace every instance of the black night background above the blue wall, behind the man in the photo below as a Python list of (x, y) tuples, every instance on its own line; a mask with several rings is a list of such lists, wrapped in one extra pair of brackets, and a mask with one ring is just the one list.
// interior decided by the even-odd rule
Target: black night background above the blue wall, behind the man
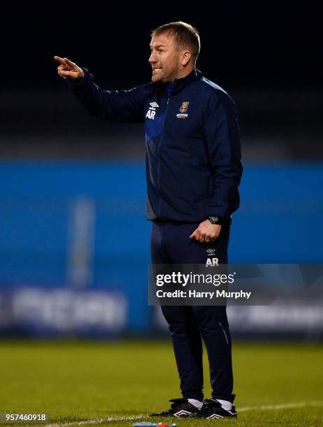
[[(149, 34), (172, 20), (200, 30), (197, 66), (239, 105), (246, 160), (323, 156), (318, 1), (18, 1), (3, 8), (3, 158), (142, 160), (141, 126), (124, 135), (90, 119), (55, 75), (52, 57), (87, 67), (106, 89), (130, 88), (150, 80)], [(122, 144), (109, 144), (111, 136)]]

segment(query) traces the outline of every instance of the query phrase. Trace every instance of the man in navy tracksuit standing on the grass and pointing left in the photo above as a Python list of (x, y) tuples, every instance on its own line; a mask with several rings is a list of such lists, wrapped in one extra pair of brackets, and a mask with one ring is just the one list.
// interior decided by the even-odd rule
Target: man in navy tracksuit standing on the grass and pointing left
[[(55, 57), (58, 73), (94, 117), (144, 122), (152, 262), (205, 264), (208, 254), (216, 251), (218, 262), (226, 264), (242, 174), (236, 105), (195, 68), (200, 37), (194, 27), (172, 22), (151, 36), (150, 83), (128, 91), (105, 91), (85, 68)], [(225, 306), (163, 306), (162, 310), (183, 398), (172, 399), (169, 410), (152, 415), (236, 417)], [(206, 400), (201, 337), (213, 390)]]

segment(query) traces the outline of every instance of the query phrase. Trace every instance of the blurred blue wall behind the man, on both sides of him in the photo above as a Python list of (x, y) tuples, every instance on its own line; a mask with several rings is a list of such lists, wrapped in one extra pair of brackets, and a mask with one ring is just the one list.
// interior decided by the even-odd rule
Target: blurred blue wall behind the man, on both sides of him
[[(323, 262), (322, 183), (245, 166), (230, 262)], [(0, 195), (0, 329), (151, 330), (143, 164), (1, 163)]]

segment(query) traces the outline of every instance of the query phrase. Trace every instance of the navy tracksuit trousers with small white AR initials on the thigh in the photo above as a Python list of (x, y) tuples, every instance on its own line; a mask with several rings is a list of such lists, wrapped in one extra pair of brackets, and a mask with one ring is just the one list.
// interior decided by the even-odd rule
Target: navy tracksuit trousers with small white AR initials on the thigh
[[(216, 249), (227, 264), (230, 226), (222, 227), (213, 244), (189, 236), (199, 223), (154, 222), (151, 232), (153, 264), (205, 264), (206, 249)], [(214, 255), (213, 255), (214, 256)], [(214, 267), (216, 268), (216, 267)], [(203, 400), (202, 338), (209, 359), (212, 398), (233, 402), (231, 336), (225, 306), (162, 306), (170, 328), (184, 398)]]

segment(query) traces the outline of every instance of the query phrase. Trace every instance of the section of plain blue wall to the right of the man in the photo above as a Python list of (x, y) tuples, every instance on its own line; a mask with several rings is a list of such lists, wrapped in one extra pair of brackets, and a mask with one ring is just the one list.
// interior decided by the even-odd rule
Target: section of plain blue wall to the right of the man
[(323, 261), (323, 165), (247, 165), (230, 261)]

